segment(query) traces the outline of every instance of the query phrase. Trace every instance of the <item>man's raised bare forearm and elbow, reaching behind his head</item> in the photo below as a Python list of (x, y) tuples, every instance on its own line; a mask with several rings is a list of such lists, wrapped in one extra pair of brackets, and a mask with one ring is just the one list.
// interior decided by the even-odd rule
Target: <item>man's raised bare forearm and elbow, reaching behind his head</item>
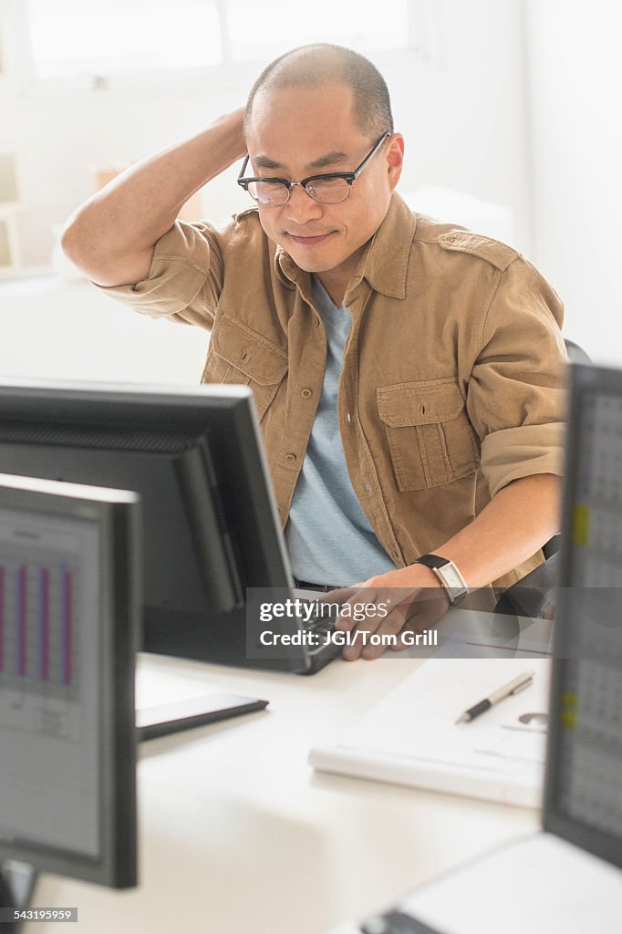
[(67, 255), (95, 280), (119, 277), (123, 265), (125, 277), (134, 267), (138, 272), (181, 206), (244, 155), (243, 113), (227, 114), (202, 133), (136, 163), (93, 195), (65, 225)]

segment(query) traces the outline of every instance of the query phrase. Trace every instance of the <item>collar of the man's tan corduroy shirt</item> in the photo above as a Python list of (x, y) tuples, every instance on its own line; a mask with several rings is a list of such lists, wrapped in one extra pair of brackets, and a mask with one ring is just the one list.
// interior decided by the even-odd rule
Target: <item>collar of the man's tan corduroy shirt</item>
[[(390, 298), (406, 297), (406, 274), (417, 218), (397, 192), (393, 192), (389, 210), (369, 241), (348, 290), (365, 278), (372, 289)], [(282, 247), (276, 248), (276, 275), (289, 288), (310, 289), (305, 273)]]

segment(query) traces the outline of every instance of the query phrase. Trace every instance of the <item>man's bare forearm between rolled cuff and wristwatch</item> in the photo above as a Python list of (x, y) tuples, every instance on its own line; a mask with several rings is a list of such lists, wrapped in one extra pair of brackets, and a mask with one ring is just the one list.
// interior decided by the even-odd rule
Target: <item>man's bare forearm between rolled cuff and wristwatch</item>
[(497, 580), (559, 531), (559, 488), (555, 474), (514, 480), (470, 525), (435, 551), (454, 561), (469, 587)]

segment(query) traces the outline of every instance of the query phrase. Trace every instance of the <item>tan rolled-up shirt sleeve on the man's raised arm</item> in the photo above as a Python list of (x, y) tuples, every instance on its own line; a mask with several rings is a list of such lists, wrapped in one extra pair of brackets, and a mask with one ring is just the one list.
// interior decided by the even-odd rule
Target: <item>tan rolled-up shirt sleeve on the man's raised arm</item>
[(209, 330), (222, 282), (218, 231), (204, 222), (177, 220), (156, 242), (146, 279), (127, 286), (92, 284), (150, 318), (170, 318)]

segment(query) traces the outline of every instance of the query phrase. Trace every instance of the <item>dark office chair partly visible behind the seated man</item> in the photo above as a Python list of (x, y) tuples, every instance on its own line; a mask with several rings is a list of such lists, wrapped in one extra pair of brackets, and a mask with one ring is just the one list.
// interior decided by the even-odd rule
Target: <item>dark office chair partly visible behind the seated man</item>
[[(583, 347), (564, 339), (571, 363), (591, 363)], [(560, 535), (554, 535), (543, 546), (544, 563), (526, 574), (502, 593), (495, 613), (508, 616), (551, 617), (555, 613), (555, 592), (558, 586)]]

